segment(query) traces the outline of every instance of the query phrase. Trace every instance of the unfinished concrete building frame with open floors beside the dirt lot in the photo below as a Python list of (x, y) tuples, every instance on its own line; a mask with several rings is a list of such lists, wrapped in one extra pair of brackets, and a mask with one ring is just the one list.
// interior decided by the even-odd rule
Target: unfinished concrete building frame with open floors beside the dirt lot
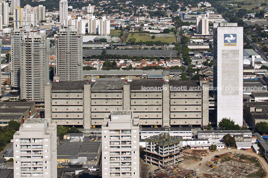
[(181, 162), (182, 137), (163, 133), (146, 139), (145, 163), (164, 167)]

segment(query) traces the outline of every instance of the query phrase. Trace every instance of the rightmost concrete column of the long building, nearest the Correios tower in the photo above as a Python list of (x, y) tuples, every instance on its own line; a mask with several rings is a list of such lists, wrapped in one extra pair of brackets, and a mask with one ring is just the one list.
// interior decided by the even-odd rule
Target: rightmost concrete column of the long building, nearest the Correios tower
[(208, 83), (202, 84), (202, 127), (206, 127), (208, 125), (209, 118), (209, 95), (208, 95)]

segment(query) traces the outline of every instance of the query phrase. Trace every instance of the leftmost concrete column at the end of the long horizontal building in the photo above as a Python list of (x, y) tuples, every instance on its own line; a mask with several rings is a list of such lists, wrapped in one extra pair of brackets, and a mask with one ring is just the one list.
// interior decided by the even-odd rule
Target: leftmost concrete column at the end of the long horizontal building
[(50, 83), (44, 85), (44, 118), (47, 118), (48, 123), (51, 123), (51, 90)]

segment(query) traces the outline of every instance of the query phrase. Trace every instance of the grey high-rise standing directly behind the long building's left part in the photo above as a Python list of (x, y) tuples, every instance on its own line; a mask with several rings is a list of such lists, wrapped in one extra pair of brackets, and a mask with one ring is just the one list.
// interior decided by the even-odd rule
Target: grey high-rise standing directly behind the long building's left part
[(82, 79), (82, 35), (74, 26), (63, 26), (55, 37), (56, 76), (59, 80)]

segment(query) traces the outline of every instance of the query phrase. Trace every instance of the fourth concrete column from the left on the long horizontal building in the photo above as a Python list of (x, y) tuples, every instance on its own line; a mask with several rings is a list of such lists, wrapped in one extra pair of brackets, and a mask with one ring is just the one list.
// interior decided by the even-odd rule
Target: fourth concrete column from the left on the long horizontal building
[(163, 83), (162, 90), (162, 127), (168, 126), (170, 124), (170, 96), (169, 96), (169, 83)]

